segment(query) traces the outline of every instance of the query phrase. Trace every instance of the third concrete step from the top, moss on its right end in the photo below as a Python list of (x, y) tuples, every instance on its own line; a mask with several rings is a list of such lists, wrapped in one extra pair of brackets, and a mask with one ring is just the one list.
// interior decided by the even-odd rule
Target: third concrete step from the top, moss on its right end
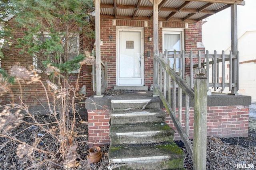
[(137, 123), (110, 126), (110, 145), (173, 142), (175, 131), (166, 123)]

